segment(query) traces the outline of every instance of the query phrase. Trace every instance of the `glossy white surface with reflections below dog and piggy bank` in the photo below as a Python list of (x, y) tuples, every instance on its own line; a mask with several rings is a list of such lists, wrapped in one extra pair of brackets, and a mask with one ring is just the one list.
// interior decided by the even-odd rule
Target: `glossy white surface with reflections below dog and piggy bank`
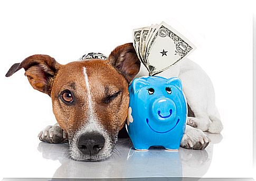
[(179, 148), (170, 152), (151, 148), (146, 152), (134, 150), (129, 139), (119, 139), (113, 155), (102, 162), (78, 162), (69, 158), (68, 145), (39, 143), (44, 159), (59, 160), (52, 177), (120, 178), (120, 177), (202, 177), (208, 170), (214, 143), (221, 135), (210, 134), (213, 140), (205, 150)]

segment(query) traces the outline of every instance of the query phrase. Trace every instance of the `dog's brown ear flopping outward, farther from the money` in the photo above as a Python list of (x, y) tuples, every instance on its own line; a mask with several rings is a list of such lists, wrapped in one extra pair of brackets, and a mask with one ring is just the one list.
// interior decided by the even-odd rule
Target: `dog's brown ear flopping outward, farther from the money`
[(22, 63), (14, 64), (5, 76), (10, 77), (24, 68), (25, 76), (29, 79), (32, 87), (50, 96), (53, 80), (60, 66), (54, 58), (48, 55), (32, 55), (24, 59)]

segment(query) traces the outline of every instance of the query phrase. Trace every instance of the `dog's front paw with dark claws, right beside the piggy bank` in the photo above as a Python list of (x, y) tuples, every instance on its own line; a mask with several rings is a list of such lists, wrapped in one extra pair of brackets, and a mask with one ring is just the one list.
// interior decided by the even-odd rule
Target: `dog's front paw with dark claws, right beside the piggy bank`
[(186, 132), (182, 138), (181, 146), (188, 149), (205, 149), (210, 139), (198, 128), (186, 126)]

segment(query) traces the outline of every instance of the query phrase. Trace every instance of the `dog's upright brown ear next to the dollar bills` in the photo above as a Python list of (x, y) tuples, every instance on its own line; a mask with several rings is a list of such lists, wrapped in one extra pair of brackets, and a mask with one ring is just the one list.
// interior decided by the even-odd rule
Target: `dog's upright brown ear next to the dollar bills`
[(109, 55), (108, 60), (126, 78), (128, 83), (139, 72), (140, 61), (132, 43), (116, 47)]

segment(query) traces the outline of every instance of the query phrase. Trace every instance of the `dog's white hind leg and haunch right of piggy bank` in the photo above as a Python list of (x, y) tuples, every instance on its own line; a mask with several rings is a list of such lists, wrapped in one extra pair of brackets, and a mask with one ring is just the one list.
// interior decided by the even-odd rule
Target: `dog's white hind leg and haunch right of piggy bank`
[[(215, 106), (211, 79), (200, 66), (189, 59), (182, 64), (179, 78), (182, 79), (183, 91), (187, 98), (187, 124), (210, 133), (220, 133), (223, 126)], [(193, 115), (189, 115), (189, 112)]]

